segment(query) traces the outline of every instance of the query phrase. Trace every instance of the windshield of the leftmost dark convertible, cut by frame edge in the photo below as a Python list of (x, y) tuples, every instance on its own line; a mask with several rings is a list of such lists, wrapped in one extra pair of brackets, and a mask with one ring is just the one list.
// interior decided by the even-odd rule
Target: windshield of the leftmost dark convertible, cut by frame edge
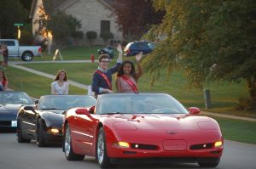
[(0, 92), (0, 104), (33, 104), (33, 101), (23, 92)]

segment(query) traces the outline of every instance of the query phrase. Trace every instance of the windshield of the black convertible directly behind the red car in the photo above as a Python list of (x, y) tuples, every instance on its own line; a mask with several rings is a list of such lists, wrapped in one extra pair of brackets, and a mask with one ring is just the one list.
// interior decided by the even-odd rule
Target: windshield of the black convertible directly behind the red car
[(40, 98), (38, 110), (68, 110), (95, 104), (96, 99), (87, 95), (47, 95)]

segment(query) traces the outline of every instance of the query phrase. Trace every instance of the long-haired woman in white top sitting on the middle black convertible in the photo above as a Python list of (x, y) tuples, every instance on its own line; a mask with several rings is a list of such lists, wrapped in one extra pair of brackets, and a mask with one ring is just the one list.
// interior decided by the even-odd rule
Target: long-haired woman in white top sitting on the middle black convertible
[(59, 70), (50, 86), (51, 94), (68, 94), (67, 71)]

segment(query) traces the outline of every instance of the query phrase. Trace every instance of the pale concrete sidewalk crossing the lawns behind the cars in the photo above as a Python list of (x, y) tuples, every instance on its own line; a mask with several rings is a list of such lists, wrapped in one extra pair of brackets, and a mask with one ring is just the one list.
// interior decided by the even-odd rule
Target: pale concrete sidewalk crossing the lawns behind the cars
[[(9, 66), (21, 69), (21, 70), (26, 70), (31, 73), (37, 74), (39, 76), (44, 76), (48, 77), (50, 79), (55, 79), (55, 76), (50, 75), (48, 73), (44, 73), (42, 71), (38, 70), (33, 70), (27, 67), (22, 66), (22, 64), (38, 64), (38, 63), (90, 63), (90, 60), (58, 60), (58, 61), (30, 61), (30, 62), (24, 62), (24, 61), (9, 61)], [(80, 88), (85, 88), (88, 89), (88, 85), (84, 85), (79, 82), (74, 82), (71, 80), (68, 80), (69, 84), (75, 86), (75, 87), (80, 87)], [(218, 116), (218, 117), (224, 117), (224, 118), (230, 118), (230, 119), (238, 119), (238, 120), (243, 120), (243, 121), (253, 121), (256, 122), (256, 118), (249, 118), (249, 117), (242, 117), (238, 115), (225, 115), (225, 114), (220, 114), (220, 113), (212, 113), (212, 112), (207, 112), (207, 111), (201, 111), (201, 115), (213, 115), (213, 116)]]

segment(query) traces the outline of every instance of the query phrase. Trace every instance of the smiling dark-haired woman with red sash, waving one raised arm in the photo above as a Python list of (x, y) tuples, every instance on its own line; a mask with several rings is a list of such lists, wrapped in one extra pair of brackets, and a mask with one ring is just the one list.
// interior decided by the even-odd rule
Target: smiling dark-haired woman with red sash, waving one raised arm
[(119, 93), (137, 93), (137, 80), (143, 75), (143, 68), (140, 60), (143, 58), (143, 52), (136, 55), (137, 71), (130, 60), (125, 60), (121, 65), (116, 79), (116, 89)]

